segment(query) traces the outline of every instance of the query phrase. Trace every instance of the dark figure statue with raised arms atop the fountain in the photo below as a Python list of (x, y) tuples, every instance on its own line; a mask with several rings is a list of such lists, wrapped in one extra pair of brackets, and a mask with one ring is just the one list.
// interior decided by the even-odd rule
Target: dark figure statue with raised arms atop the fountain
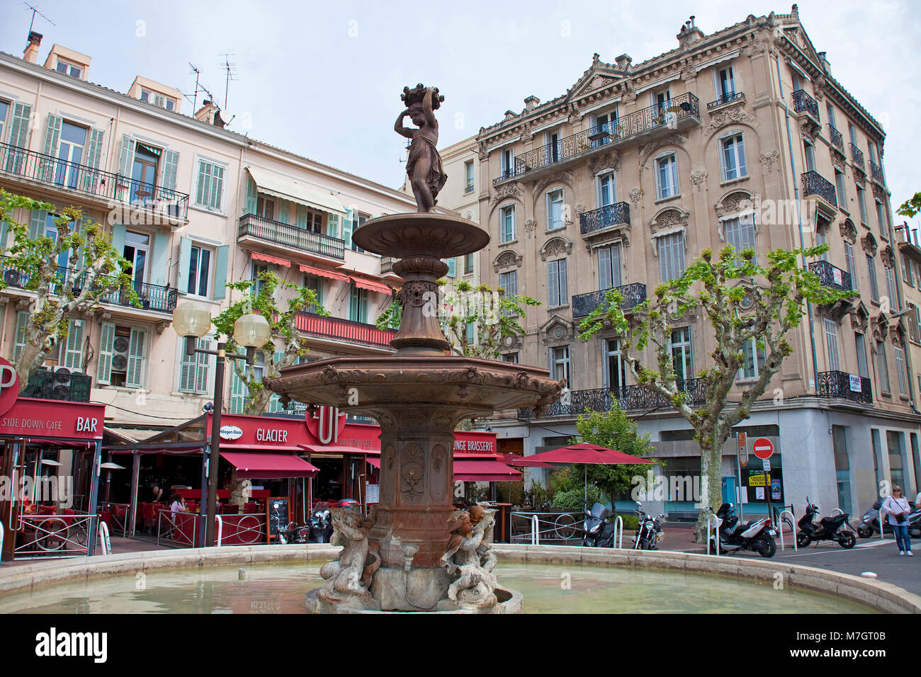
[[(431, 212), (437, 204), (437, 196), (448, 181), (448, 175), (441, 163), (441, 156), (436, 149), (438, 143), (438, 121), (432, 111), (437, 110), (443, 96), (438, 95), (438, 88), (426, 88), (422, 83), (414, 89), (403, 88), (400, 95), (406, 103), (406, 110), (400, 113), (393, 130), (408, 139), (413, 139), (406, 160), (406, 173), (413, 186), (415, 204), (419, 212)], [(403, 127), (402, 121), (407, 115), (418, 129)]]

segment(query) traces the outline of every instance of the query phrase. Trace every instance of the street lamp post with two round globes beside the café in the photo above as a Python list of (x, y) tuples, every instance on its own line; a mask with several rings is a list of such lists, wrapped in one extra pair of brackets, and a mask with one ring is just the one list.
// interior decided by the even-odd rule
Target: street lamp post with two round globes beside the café
[[(196, 353), (201, 355), (214, 355), (217, 357), (215, 370), (215, 396), (214, 411), (211, 416), (211, 442), (208, 445), (207, 458), (205, 461), (207, 475), (207, 510), (204, 519), (204, 529), (199, 538), (200, 546), (214, 544), (215, 538), (215, 518), (217, 514), (217, 465), (220, 459), (221, 443), (221, 410), (224, 406), (224, 369), (225, 360), (230, 359), (246, 360), (248, 365), (252, 364), (256, 348), (260, 348), (272, 340), (272, 332), (269, 329), (269, 323), (255, 313), (242, 315), (239, 320), (234, 322), (234, 341), (238, 345), (246, 348), (245, 355), (231, 353), (227, 355), (226, 344), (217, 343), (217, 350), (208, 350), (196, 346), (197, 339), (202, 338), (211, 330), (211, 314), (208, 309), (200, 303), (188, 301), (181, 303), (173, 312), (173, 329), (180, 336), (185, 338), (184, 354), (192, 356)], [(204, 477), (203, 477), (204, 484)], [(202, 506), (204, 508), (204, 505)]]

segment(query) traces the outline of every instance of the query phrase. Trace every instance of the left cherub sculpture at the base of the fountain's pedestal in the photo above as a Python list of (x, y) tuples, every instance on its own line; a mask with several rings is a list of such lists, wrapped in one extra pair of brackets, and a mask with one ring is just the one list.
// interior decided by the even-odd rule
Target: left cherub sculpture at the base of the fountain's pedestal
[(318, 595), (321, 600), (351, 599), (364, 604), (371, 601), (367, 587), (380, 566), (379, 555), (368, 552), (367, 532), (373, 524), (372, 519), (362, 518), (361, 512), (354, 507), (344, 508), (339, 515), (333, 516), (332, 544), (341, 544), (343, 551), (320, 569), (321, 577), (326, 580)]

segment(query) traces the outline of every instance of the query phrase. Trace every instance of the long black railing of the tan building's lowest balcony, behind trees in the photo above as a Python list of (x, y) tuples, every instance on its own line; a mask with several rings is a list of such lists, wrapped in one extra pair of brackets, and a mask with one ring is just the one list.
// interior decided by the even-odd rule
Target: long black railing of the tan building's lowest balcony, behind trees
[[(702, 404), (706, 402), (703, 379), (687, 379), (678, 381), (679, 390), (688, 393), (689, 403)], [(591, 391), (571, 391), (543, 408), (541, 417), (549, 416), (576, 416), (584, 414), (588, 409), (592, 412), (610, 412), (613, 403), (618, 403), (624, 411), (637, 409), (659, 409), (671, 407), (671, 403), (658, 392), (653, 392), (643, 386), (624, 386), (623, 388), (600, 388)], [(533, 408), (519, 409), (519, 418), (536, 418)]]

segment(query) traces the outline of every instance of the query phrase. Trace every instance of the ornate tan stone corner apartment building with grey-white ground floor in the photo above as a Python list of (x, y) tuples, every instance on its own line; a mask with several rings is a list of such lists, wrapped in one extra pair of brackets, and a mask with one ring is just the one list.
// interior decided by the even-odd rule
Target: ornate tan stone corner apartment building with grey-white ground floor
[[(481, 279), (542, 301), (520, 319), (523, 344), (503, 359), (545, 365), (569, 384), (543, 412), (490, 421), (502, 450), (565, 443), (577, 414), (617, 400), (652, 433), (667, 458), (662, 474), (699, 474), (686, 422), (635, 384), (611, 333), (580, 341), (579, 321), (609, 288), (634, 308), (705, 248), (764, 255), (825, 242), (830, 251), (806, 262), (810, 270), (860, 296), (810, 307), (791, 332), (794, 354), (737, 426), (774, 443), (771, 483), (759, 484), (753, 455), (739, 467), (730, 438), (725, 496), (757, 512), (767, 499), (799, 509), (808, 495), (826, 512), (853, 513), (880, 482), (916, 491), (921, 383), (908, 378), (918, 366), (906, 351), (880, 124), (834, 78), (796, 6), (708, 35), (692, 18), (676, 38), (675, 49), (640, 64), (595, 54), (565, 94), (529, 97), (476, 137), (481, 222), (492, 236)], [(675, 368), (701, 403), (694, 372), (714, 349), (712, 331), (699, 309), (678, 324)], [(737, 393), (764, 360), (754, 342), (747, 357)], [(691, 496), (670, 484), (657, 498), (672, 515), (694, 514)]]

